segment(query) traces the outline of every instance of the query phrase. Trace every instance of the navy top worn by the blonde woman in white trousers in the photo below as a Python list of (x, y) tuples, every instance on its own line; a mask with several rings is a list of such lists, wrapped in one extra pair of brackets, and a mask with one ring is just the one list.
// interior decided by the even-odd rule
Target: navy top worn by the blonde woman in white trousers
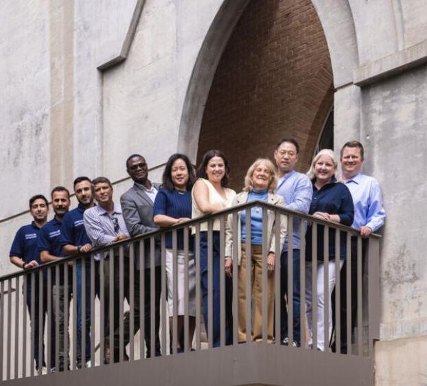
[[(349, 188), (341, 182), (336, 182), (332, 179), (330, 183), (323, 186), (318, 190), (313, 183), (313, 197), (308, 214), (314, 212), (326, 212), (329, 214), (338, 214), (341, 219), (342, 225), (351, 227), (354, 219), (354, 205), (353, 198)], [(323, 238), (324, 238), (324, 225), (317, 225), (317, 260), (323, 261)], [(340, 232), (340, 256), (345, 259), (347, 247), (347, 236), (345, 231)], [(329, 229), (329, 259), (335, 258), (335, 229)], [(307, 227), (305, 234), (305, 260), (312, 260), (312, 225)]]

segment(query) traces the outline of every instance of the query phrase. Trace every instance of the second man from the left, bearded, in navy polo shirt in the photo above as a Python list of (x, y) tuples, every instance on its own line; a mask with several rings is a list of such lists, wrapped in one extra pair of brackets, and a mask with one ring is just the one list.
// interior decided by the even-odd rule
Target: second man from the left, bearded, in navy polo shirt
[[(51, 192), (51, 198), (55, 216), (44, 227), (42, 227), (38, 237), (38, 251), (40, 251), (40, 258), (42, 262), (52, 262), (62, 258), (60, 244), (62, 218), (68, 212), (70, 206), (69, 191), (63, 186), (57, 186), (54, 188)], [(65, 355), (68, 355), (68, 353), (65, 353), (64, 349), (65, 339), (69, 340), (68, 326), (67, 331), (65, 331), (64, 327), (64, 315), (66, 307), (67, 309), (69, 307), (69, 304), (65, 304), (65, 291), (69, 291), (69, 288), (64, 288), (62, 270), (60, 276), (59, 286), (56, 285), (56, 280), (53, 282), (52, 298), (56, 299), (57, 296), (59, 297), (59, 314), (55, 315), (55, 319), (58, 318), (59, 321), (59, 370), (63, 371)], [(58, 292), (59, 295), (56, 295)], [(69, 301), (70, 297), (68, 296), (68, 302)], [(54, 307), (54, 314), (55, 312), (56, 307)], [(69, 361), (67, 363), (69, 363)]]

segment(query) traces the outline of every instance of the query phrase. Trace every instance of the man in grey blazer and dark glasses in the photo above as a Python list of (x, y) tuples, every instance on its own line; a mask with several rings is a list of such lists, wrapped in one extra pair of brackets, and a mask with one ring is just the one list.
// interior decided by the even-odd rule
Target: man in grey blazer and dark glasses
[[(154, 199), (156, 198), (159, 190), (159, 183), (152, 183), (148, 179), (148, 166), (144, 157), (138, 154), (131, 155), (126, 160), (126, 170), (130, 178), (134, 181), (132, 188), (122, 194), (120, 203), (122, 204), (122, 212), (126, 227), (128, 228), (130, 236), (137, 236), (146, 234), (151, 231), (159, 229), (152, 220), (152, 208)], [(154, 239), (154, 292), (155, 292), (155, 307), (154, 307), (154, 325), (155, 325), (155, 354), (159, 356), (160, 353), (160, 340), (159, 340), (159, 326), (160, 326), (160, 293), (161, 293), (161, 260), (160, 260), (160, 242), (159, 239)], [(144, 242), (145, 259), (139, 262), (139, 266), (143, 268), (144, 274), (144, 326), (145, 326), (145, 339), (147, 347), (147, 358), (151, 356), (151, 261), (152, 256), (150, 238)], [(136, 253), (139, 256), (139, 253)], [(137, 262), (138, 264), (138, 262)], [(143, 266), (142, 266), (143, 264)], [(135, 278), (139, 275), (135, 275)], [(142, 310), (141, 310), (142, 314)]]

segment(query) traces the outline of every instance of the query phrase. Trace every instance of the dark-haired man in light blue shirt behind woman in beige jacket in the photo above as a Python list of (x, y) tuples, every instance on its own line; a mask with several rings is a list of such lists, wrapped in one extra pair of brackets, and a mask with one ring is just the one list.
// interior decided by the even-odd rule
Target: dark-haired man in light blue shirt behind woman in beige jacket
[[(313, 188), (310, 179), (302, 173), (295, 172), (295, 164), (299, 157), (299, 144), (293, 138), (284, 138), (277, 144), (275, 150), (275, 161), (277, 165), (277, 194), (285, 201), (287, 209), (308, 214), (312, 201)], [(280, 299), (288, 294), (288, 253), (292, 253), (292, 313), (293, 313), (293, 337), (288, 338), (288, 311), (284, 302), (281, 305), (281, 343), (298, 346), (301, 342), (301, 301), (300, 301), (300, 275), (299, 275), (299, 250), (301, 237), (305, 237), (305, 227), (300, 234), (299, 219), (293, 219), (292, 235), (286, 236), (284, 249), (281, 253), (280, 268)], [(289, 227), (288, 227), (289, 229)], [(289, 237), (291, 236), (291, 237)]]

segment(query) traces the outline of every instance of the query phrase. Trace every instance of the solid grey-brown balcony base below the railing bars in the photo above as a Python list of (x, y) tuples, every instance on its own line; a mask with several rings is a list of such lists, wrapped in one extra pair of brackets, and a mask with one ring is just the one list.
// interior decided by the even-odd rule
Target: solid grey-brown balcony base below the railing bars
[(373, 386), (373, 360), (283, 345), (242, 343), (22, 378), (3, 385)]

